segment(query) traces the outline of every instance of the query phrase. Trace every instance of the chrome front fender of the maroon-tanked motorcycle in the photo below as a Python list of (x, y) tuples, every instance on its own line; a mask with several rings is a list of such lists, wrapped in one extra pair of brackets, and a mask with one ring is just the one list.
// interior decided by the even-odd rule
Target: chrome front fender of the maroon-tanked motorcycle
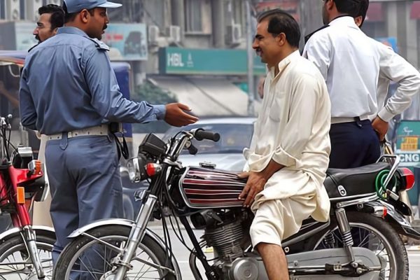
[[(85, 225), (82, 228), (78, 228), (77, 230), (71, 232), (71, 235), (69, 235), (67, 238), (74, 239), (80, 235), (83, 235), (84, 232), (93, 230), (94, 228), (102, 227), (104, 225), (122, 225), (123, 227), (132, 228), (134, 225), (136, 225), (136, 223), (134, 223), (134, 221), (118, 218), (99, 220), (94, 223), (90, 223), (89, 225)], [(155, 241), (160, 246), (160, 248), (162, 248), (162, 250), (167, 250), (165, 242), (158, 235), (156, 235), (155, 232), (146, 228), (145, 235), (148, 235), (148, 237), (153, 239), (153, 241)], [(172, 266), (174, 267), (174, 271), (176, 272), (176, 276), (181, 276), (181, 270), (179, 269), (178, 261), (176, 260), (173, 253), (171, 255), (171, 262)]]

